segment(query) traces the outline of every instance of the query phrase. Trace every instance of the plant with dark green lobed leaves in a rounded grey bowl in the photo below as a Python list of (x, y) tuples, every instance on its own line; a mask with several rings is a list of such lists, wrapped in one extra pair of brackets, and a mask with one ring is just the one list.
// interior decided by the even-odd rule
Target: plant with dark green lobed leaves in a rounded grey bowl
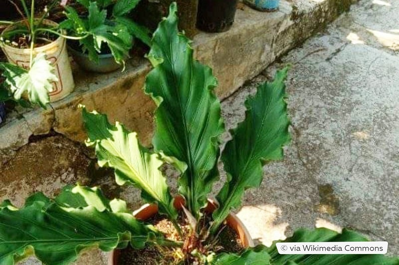
[[(71, 6), (65, 7), (67, 19), (61, 23), (61, 28), (72, 36), (81, 37), (79, 41), (69, 42), (69, 50), (83, 69), (107, 73), (124, 68), (133, 37), (150, 44), (150, 31), (126, 16), (139, 1), (77, 0), (86, 8), (85, 16), (78, 15)], [(102, 45), (103, 42), (106, 45)]]

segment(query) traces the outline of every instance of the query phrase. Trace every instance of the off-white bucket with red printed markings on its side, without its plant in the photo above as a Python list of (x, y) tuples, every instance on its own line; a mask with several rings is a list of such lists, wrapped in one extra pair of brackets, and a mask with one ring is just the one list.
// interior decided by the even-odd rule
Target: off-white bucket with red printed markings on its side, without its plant
[[(58, 26), (57, 23), (50, 20), (43, 20), (43, 24), (54, 27)], [(1, 33), (1, 36), (3, 36), (5, 32), (12, 30), (14, 27), (15, 25), (11, 25), (5, 28)], [(29, 67), (30, 49), (14, 48), (3, 42), (0, 42), (0, 46), (7, 57), (8, 62), (25, 69)], [(46, 54), (46, 59), (51, 62), (52, 66), (54, 66), (55, 75), (58, 78), (58, 82), (53, 83), (53, 90), (50, 92), (50, 101), (57, 101), (69, 95), (73, 91), (73, 88), (75, 88), (75, 83), (73, 82), (65, 38), (58, 37), (55, 41), (49, 44), (34, 48), (33, 56), (38, 53)]]

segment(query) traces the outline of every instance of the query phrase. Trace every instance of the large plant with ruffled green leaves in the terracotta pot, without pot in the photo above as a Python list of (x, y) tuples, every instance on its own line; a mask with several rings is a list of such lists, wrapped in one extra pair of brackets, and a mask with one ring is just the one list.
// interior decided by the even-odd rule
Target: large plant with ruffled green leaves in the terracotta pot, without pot
[[(275, 244), (241, 253), (211, 248), (209, 242), (217, 240), (223, 221), (239, 207), (245, 189), (260, 185), (262, 166), (283, 158), (282, 147), (290, 140), (284, 85), (287, 69), (278, 71), (274, 81), (260, 85), (245, 102), (245, 119), (231, 131), (232, 139), (220, 155), (227, 181), (216, 196), (218, 208), (210, 225), (206, 231), (192, 225), (189, 233), (182, 233), (174, 196), (160, 168), (169, 163), (180, 171), (184, 215), (191, 224), (199, 222), (212, 184), (219, 178), (218, 138), (224, 125), (214, 94), (216, 79), (209, 67), (193, 59), (189, 39), (178, 32), (176, 13), (173, 3), (168, 18), (154, 33), (148, 55), (154, 69), (147, 76), (145, 91), (157, 104), (154, 150), (143, 147), (137, 134), (122, 124), (111, 125), (104, 114), (82, 108), (87, 145), (95, 149), (98, 164), (113, 168), (118, 184), (139, 187), (145, 202), (157, 204), (159, 213), (176, 227), (178, 240), (167, 239), (152, 225), (135, 219), (126, 202), (108, 200), (96, 187), (77, 185), (66, 187), (53, 199), (36, 193), (20, 209), (10, 201), (0, 205), (0, 264), (12, 265), (35, 255), (44, 264), (64, 265), (87, 248), (111, 251), (128, 245), (135, 249), (146, 245), (180, 249), (182, 255), (176, 264), (399, 264), (398, 259), (383, 255), (279, 255)], [(187, 247), (187, 240), (194, 247)], [(339, 234), (328, 229), (302, 229), (285, 242), (337, 241), (367, 239), (350, 230)]]

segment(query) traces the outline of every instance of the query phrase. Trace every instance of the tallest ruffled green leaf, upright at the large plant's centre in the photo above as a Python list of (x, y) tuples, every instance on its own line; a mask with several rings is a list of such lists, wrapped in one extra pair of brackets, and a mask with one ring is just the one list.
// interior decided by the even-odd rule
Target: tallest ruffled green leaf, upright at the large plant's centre
[(154, 148), (187, 164), (179, 190), (198, 215), (218, 177), (212, 169), (224, 125), (213, 91), (216, 79), (209, 67), (193, 59), (189, 39), (178, 31), (176, 13), (172, 3), (169, 16), (154, 33), (149, 53), (154, 69), (147, 76), (145, 91), (158, 105)]

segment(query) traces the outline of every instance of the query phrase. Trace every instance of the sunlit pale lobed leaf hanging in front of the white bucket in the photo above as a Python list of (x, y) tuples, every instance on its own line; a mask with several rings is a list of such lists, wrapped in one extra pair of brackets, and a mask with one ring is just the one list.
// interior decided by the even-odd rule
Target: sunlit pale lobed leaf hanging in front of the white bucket
[(23, 68), (2, 63), (3, 75), (15, 100), (19, 100), (22, 94), (27, 93), (33, 104), (39, 104), (43, 108), (49, 102), (48, 93), (53, 90), (52, 82), (58, 79), (54, 75), (54, 67), (46, 60), (44, 53), (39, 53), (33, 58), (32, 67), (26, 71)]

